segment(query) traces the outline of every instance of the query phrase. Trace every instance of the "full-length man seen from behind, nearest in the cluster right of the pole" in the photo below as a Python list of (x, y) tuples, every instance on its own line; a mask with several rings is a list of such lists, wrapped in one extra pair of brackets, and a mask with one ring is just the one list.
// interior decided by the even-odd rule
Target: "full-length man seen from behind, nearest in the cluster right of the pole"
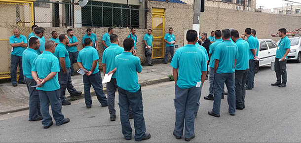
[(230, 30), (224, 29), (222, 31), (223, 42), (218, 44), (215, 48), (213, 59), (214, 62), (214, 102), (209, 115), (220, 117), (221, 99), (224, 85), (228, 90), (228, 112), (230, 115), (235, 115), (235, 64), (238, 59), (237, 46), (230, 40)]

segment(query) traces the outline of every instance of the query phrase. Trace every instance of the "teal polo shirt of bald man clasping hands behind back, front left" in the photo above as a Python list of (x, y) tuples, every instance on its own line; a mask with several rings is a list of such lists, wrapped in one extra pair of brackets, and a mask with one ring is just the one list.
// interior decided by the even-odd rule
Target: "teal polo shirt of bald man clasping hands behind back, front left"
[[(32, 71), (38, 73), (38, 77), (44, 79), (50, 72), (60, 72), (59, 60), (48, 51), (44, 51), (34, 61)], [(54, 91), (60, 89), (58, 73), (53, 78), (45, 82), (37, 90)]]

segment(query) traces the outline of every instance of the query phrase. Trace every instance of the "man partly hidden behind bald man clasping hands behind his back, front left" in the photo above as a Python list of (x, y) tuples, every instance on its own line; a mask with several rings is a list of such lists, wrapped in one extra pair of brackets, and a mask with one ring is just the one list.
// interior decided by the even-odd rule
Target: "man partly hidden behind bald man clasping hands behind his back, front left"
[(32, 65), (34, 60), (38, 57), (37, 50), (39, 48), (39, 40), (37, 37), (32, 37), (28, 41), (29, 48), (23, 52), (22, 67), (24, 73), (24, 79), (29, 92), (29, 121), (39, 121), (43, 117), (40, 112), (40, 102), (38, 98), (37, 83), (32, 76)]

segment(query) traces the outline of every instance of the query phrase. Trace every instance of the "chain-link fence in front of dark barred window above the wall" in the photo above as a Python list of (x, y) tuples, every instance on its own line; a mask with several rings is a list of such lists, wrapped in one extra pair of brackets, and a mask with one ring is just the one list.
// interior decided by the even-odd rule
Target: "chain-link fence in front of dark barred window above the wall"
[(84, 7), (71, 1), (36, 1), (35, 22), (42, 27), (144, 28), (146, 10), (145, 0), (89, 0)]

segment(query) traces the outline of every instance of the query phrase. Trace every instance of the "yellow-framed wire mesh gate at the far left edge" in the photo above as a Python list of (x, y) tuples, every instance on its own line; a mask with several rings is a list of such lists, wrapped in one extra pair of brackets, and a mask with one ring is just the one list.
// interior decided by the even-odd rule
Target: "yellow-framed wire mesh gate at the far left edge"
[(14, 27), (20, 29), (21, 35), (28, 36), (31, 33), (33, 10), (33, 2), (30, 1), (0, 0), (0, 79), (10, 78), (9, 36), (12, 36)]

